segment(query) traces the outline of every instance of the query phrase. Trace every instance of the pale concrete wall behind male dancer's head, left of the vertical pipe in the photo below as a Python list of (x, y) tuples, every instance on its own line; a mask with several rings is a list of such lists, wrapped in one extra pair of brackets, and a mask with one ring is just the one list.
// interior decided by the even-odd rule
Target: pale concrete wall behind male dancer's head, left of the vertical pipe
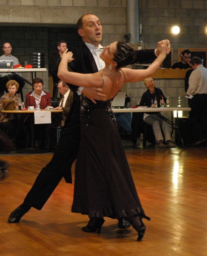
[(0, 23), (29, 25), (76, 24), (85, 13), (103, 24), (103, 45), (126, 32), (126, 0), (0, 0)]

